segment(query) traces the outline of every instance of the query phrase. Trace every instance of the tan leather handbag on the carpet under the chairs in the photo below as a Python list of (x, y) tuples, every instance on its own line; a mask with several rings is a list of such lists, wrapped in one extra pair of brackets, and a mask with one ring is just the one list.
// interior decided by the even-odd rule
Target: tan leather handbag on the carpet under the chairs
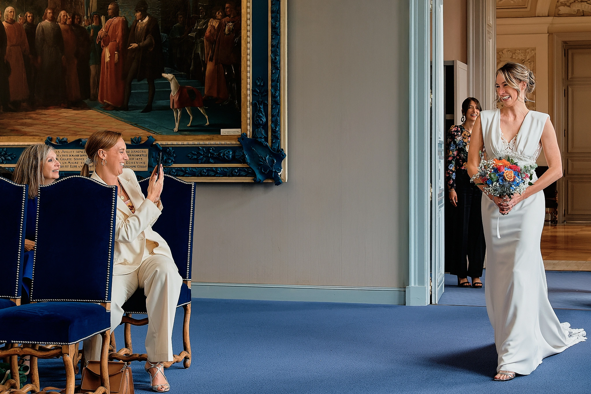
[[(131, 367), (128, 363), (110, 361), (108, 363), (109, 385), (111, 393), (134, 394), (134, 378), (131, 376)], [(100, 386), (100, 365), (98, 361), (89, 361), (82, 370), (83, 393), (95, 391)]]

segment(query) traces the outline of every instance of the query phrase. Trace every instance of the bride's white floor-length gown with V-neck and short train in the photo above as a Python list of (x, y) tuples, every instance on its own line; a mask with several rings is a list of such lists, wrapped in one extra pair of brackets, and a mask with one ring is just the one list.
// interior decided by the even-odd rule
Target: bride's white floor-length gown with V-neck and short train
[[(501, 111), (480, 112), (488, 158), (509, 156), (520, 165), (534, 164), (541, 151), (540, 138), (547, 118), (547, 113), (530, 110), (515, 138), (507, 142), (501, 133)], [(495, 203), (482, 198), (486, 311), (495, 330), (497, 372), (529, 375), (544, 357), (586, 340), (583, 329), (558, 321), (548, 301), (540, 252), (544, 213), (543, 191), (525, 198), (500, 218)]]

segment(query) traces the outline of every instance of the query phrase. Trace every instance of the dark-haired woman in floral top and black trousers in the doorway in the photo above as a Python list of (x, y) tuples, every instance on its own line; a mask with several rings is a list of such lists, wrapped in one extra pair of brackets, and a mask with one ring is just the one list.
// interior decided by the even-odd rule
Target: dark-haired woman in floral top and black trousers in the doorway
[[(446, 266), (457, 275), (460, 287), (482, 288), (480, 276), (486, 252), (480, 201), (482, 191), (467, 173), (472, 126), (480, 114), (480, 103), (468, 97), (462, 103), (462, 125), (447, 132), (446, 183), (450, 204), (446, 204)], [(466, 263), (466, 256), (468, 263)], [(472, 284), (467, 277), (472, 278)]]

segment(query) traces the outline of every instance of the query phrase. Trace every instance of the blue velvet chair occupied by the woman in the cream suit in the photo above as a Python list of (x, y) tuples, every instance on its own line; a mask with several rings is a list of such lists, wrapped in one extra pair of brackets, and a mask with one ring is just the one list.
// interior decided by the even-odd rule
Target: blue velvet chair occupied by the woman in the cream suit
[[(191, 318), (191, 261), (193, 255), (193, 218), (195, 208), (195, 184), (181, 181), (176, 177), (164, 175), (164, 190), (160, 200), (164, 210), (152, 229), (160, 234), (170, 246), (173, 259), (178, 267), (178, 273), (183, 278), (181, 294), (178, 298), (177, 308), (184, 308), (183, 321), (183, 347), (180, 354), (174, 355), (173, 362), (164, 363), (165, 367), (183, 361), (183, 366), (191, 365), (191, 343), (189, 339), (189, 320)], [(148, 194), (148, 182), (150, 178), (139, 182), (144, 196)], [(147, 314), (146, 297), (143, 289), (138, 289), (123, 305), (125, 316), (121, 324), (125, 324), (125, 348), (115, 353), (115, 338), (111, 337), (113, 353), (109, 354), (112, 360), (147, 360), (146, 354), (132, 354), (131, 324), (145, 325), (148, 319), (134, 319), (131, 314)]]

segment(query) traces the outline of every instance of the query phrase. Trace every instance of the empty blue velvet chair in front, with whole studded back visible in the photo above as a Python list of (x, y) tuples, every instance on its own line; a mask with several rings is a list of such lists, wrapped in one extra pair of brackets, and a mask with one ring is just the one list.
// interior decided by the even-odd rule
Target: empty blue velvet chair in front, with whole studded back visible
[[(102, 334), (101, 383), (109, 393), (116, 198), (115, 186), (80, 176), (39, 187), (31, 304), (0, 310), (0, 343), (9, 345), (0, 357), (11, 357), (16, 367), (17, 356), (32, 356), (31, 383), (37, 391), (37, 358), (61, 356), (65, 393), (73, 394), (79, 343)], [(59, 346), (39, 346), (44, 344)]]

